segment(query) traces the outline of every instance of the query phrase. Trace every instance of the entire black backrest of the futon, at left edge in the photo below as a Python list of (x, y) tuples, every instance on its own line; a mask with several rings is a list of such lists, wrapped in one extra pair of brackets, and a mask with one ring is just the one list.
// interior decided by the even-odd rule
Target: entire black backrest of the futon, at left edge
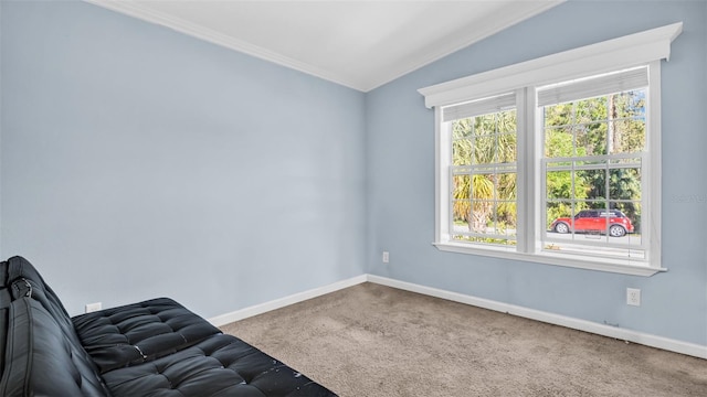
[(66, 309), (24, 258), (0, 262), (0, 396), (109, 396)]

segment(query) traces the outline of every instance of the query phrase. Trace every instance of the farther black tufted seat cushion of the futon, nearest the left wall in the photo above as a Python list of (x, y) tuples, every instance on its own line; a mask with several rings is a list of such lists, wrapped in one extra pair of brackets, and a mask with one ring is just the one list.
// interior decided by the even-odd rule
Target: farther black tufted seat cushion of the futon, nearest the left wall
[(76, 333), (102, 373), (175, 353), (221, 333), (169, 298), (74, 316)]

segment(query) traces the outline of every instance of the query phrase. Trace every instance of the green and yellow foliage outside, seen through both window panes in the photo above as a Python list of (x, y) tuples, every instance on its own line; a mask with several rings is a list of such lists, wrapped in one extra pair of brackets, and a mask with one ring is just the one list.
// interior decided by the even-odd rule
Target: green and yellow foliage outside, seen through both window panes
[[(611, 155), (644, 151), (645, 92), (587, 98), (542, 110), (544, 154), (549, 159), (547, 226), (583, 208), (618, 208), (639, 227), (641, 168), (636, 159)], [(452, 215), (469, 232), (505, 234), (516, 227), (516, 130), (515, 109), (452, 124)], [(464, 237), (479, 238), (499, 243), (497, 238)]]

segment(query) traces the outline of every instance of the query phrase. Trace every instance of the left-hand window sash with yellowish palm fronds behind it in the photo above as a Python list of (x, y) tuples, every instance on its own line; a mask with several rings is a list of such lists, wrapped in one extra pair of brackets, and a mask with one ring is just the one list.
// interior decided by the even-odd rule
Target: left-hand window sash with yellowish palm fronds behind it
[[(497, 111), (488, 112), (496, 109)], [(517, 228), (515, 94), (445, 108), (450, 144), (449, 236), (514, 246)]]

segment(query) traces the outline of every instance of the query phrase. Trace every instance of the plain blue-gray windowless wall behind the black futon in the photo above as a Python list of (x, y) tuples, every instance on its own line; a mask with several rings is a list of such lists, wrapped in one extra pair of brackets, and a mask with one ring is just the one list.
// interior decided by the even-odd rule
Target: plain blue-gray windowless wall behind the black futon
[(89, 3), (1, 9), (1, 255), (70, 312), (365, 272), (362, 93)]

